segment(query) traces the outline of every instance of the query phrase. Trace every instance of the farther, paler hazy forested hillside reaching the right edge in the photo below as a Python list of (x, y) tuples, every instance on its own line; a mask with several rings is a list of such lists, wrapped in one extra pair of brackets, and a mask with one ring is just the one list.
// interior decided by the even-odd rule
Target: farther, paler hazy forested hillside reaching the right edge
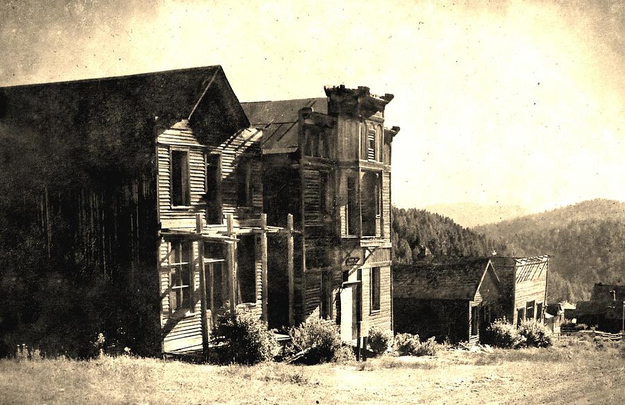
[(625, 283), (625, 203), (595, 199), (474, 228), (510, 254), (549, 254), (549, 300), (590, 297), (596, 282)]

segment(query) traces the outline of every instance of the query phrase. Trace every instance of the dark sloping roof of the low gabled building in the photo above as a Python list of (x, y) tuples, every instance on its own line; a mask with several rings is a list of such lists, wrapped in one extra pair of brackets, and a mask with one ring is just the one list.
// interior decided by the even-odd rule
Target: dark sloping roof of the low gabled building
[(474, 299), (489, 269), (497, 277), (489, 258), (447, 264), (394, 265), (393, 295), (415, 299)]

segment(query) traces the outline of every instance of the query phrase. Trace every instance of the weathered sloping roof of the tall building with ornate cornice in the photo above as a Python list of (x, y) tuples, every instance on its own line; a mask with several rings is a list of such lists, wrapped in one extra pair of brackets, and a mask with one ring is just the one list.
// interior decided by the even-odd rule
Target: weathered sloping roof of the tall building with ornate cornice
[(302, 108), (328, 113), (328, 99), (253, 101), (241, 106), (252, 126), (263, 129), (263, 149), (293, 149), (299, 146), (297, 120)]

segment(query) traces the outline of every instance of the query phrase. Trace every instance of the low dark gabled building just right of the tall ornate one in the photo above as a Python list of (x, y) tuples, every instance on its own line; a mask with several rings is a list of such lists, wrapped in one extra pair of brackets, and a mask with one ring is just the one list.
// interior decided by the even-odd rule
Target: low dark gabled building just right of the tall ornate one
[(488, 258), (394, 265), (395, 332), (477, 343), (501, 315), (500, 286)]

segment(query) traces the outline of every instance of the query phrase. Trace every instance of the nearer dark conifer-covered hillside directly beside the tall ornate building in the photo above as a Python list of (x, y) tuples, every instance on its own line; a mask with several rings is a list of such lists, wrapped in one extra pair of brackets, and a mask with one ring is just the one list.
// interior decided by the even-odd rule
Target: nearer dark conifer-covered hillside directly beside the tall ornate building
[(392, 217), (394, 263), (412, 263), (424, 249), (431, 253), (433, 260), (490, 256), (493, 251), (506, 254), (502, 244), (496, 244), (442, 215), (393, 207)]

